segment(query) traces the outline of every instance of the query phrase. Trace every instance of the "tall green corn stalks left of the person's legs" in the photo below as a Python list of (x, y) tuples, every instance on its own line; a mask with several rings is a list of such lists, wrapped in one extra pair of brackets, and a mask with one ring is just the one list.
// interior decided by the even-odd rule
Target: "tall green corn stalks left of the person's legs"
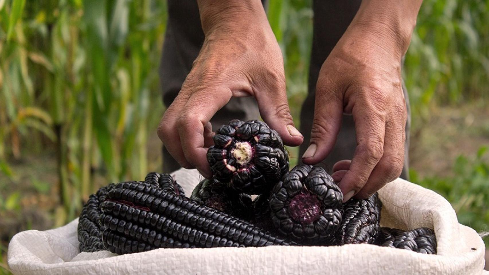
[(0, 4), (0, 169), (15, 179), (7, 160), (22, 147), (55, 152), (72, 218), (98, 188), (93, 170), (110, 181), (147, 172), (147, 135), (162, 113), (153, 99), (165, 3)]

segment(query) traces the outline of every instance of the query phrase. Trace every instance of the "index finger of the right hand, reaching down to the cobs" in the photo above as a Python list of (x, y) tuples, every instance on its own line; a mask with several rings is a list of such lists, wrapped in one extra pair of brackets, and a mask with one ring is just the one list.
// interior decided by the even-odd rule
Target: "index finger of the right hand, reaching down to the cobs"
[(354, 107), (353, 118), (357, 146), (350, 169), (339, 183), (343, 201), (349, 200), (363, 188), (383, 155), (385, 116), (366, 104)]

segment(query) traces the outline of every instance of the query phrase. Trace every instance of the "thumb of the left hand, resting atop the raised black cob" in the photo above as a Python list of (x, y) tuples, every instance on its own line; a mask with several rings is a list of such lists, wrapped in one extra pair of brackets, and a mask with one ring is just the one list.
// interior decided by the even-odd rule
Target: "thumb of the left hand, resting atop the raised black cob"
[(268, 93), (256, 94), (260, 115), (270, 128), (280, 134), (285, 145), (299, 146), (304, 141), (304, 136), (294, 126), (287, 102), (285, 81), (280, 86)]

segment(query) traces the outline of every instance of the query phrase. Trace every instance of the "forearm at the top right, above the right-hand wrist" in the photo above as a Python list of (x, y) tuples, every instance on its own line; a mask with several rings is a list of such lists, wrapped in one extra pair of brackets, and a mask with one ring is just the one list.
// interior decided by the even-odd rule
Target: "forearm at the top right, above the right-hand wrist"
[(402, 56), (411, 41), (421, 3), (422, 0), (363, 0), (351, 25), (375, 32)]

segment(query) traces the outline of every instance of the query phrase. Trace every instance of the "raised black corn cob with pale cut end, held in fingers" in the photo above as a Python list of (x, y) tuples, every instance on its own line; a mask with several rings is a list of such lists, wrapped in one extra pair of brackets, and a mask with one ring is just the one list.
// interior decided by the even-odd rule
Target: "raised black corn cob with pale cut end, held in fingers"
[(232, 120), (219, 128), (207, 161), (216, 179), (248, 194), (271, 190), (289, 170), (282, 139), (259, 120)]

